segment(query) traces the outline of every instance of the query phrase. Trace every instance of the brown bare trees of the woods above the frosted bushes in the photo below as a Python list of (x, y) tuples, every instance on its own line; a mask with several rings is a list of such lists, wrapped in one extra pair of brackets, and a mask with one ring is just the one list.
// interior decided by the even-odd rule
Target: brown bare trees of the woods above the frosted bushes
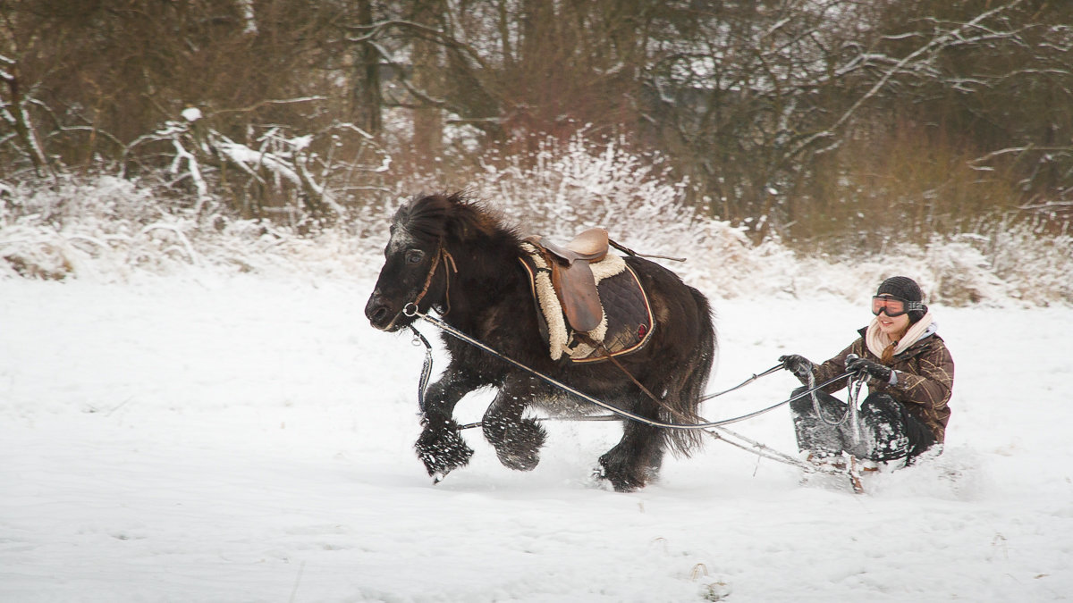
[[(294, 157), (332, 164), (465, 163), (584, 129), (659, 149), (687, 202), (756, 237), (852, 232), (884, 205), (928, 227), (1062, 216), (1071, 23), (1052, 0), (0, 0), (0, 170), (166, 171), (158, 134), (196, 107), (214, 139), (306, 134)], [(261, 186), (207, 148), (242, 215), (320, 211), (315, 187)], [(358, 173), (349, 190), (385, 181)]]

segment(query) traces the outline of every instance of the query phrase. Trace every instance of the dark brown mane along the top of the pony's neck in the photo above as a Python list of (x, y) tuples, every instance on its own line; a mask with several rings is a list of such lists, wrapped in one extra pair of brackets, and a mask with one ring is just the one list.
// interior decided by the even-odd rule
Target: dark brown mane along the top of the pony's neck
[(517, 229), (505, 224), (497, 211), (461, 192), (418, 196), (399, 208), (393, 225), (424, 242), (481, 237), (515, 245), (520, 241)]

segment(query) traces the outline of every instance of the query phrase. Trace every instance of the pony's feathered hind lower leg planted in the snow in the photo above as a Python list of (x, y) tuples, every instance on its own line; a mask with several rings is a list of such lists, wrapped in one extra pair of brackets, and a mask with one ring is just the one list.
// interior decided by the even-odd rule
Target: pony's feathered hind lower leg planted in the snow
[(663, 446), (658, 427), (628, 421), (622, 426), (622, 439), (600, 457), (597, 476), (611, 482), (616, 491), (642, 488), (659, 473)]

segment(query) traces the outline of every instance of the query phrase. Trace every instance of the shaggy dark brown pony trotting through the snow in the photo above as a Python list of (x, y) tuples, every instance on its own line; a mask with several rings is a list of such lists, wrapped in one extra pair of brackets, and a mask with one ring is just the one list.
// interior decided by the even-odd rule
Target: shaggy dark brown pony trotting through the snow
[[(460, 194), (430, 195), (395, 214), (386, 261), (365, 307), (373, 327), (396, 332), (415, 319), (403, 307), (435, 308), (443, 320), (500, 353), (579, 392), (622, 410), (663, 422), (695, 420), (716, 349), (708, 302), (671, 270), (627, 256), (652, 308), (655, 326), (644, 348), (617, 359), (650, 393), (645, 394), (611, 362), (553, 361), (540, 335), (524, 254), (517, 233), (484, 206)], [(498, 388), (485, 411), (484, 437), (500, 462), (528, 471), (540, 460), (545, 430), (526, 409), (553, 414), (585, 414), (600, 409), (565, 394), (488, 353), (443, 334), (451, 362), (425, 396), (424, 429), (415, 445), (429, 475), (441, 479), (473, 455), (453, 413), (468, 393)], [(640, 488), (656, 475), (664, 450), (689, 454), (696, 431), (660, 429), (629, 421), (621, 441), (600, 457), (597, 475), (616, 490)]]

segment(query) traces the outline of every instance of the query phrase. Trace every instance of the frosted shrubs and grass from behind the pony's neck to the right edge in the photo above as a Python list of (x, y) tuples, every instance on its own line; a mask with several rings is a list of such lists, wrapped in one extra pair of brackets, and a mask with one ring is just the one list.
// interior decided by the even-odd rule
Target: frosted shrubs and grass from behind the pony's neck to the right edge
[(658, 155), (584, 135), (547, 138), (532, 155), (486, 157), (471, 188), (524, 234), (564, 241), (601, 225), (638, 252), (687, 258), (661, 263), (716, 297), (824, 293), (861, 300), (896, 271), (916, 279), (930, 303), (1073, 302), (1069, 237), (996, 227), (989, 236), (932, 235), (924, 246), (892, 242), (865, 256), (800, 255), (778, 238), (752, 245), (741, 229), (696, 215), (682, 203), (688, 182), (662, 164)]

